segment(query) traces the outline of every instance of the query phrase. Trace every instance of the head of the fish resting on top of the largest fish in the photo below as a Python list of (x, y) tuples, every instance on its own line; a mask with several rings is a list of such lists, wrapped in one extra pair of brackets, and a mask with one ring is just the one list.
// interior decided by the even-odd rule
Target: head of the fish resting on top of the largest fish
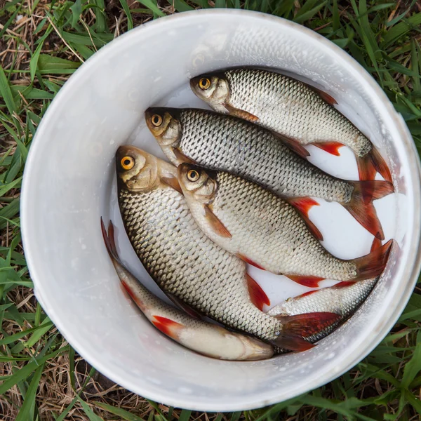
[(213, 201), (218, 183), (214, 171), (205, 170), (192, 163), (182, 163), (178, 166), (178, 182), (186, 199), (193, 199), (202, 204)]

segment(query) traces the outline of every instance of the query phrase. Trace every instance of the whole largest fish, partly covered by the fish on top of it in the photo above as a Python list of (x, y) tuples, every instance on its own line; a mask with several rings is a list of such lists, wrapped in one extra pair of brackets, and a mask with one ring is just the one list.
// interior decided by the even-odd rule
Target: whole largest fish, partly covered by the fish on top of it
[(302, 334), (316, 332), (338, 314), (276, 318), (262, 312), (270, 300), (246, 272), (246, 264), (208, 239), (180, 193), (177, 169), (133, 146), (116, 152), (119, 208), (140, 262), (183, 309), (227, 328), (304, 351)]

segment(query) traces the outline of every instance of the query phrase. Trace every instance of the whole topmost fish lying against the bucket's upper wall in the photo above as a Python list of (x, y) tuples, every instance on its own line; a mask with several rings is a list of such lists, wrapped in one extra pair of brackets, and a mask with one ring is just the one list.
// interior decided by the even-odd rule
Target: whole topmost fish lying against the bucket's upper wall
[(356, 156), (360, 180), (378, 172), (392, 182), (385, 159), (372, 142), (333, 105), (327, 93), (267, 69), (234, 68), (190, 80), (192, 91), (210, 107), (252, 121), (290, 141), (315, 145), (339, 156), (347, 146)]

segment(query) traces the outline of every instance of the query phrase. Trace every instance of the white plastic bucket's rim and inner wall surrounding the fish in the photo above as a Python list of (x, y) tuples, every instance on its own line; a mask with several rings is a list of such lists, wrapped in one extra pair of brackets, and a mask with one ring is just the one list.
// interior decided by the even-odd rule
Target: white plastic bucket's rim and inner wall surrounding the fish
[[(404, 196), (393, 209), (399, 248), (359, 312), (308, 352), (257, 362), (209, 359), (163, 337), (121, 293), (99, 225), (100, 216), (118, 218), (111, 188), (114, 154), (128, 138), (138, 138), (133, 131), (145, 109), (192, 76), (239, 65), (292, 72), (334, 95), (370, 129), (373, 142), (387, 154), (396, 192)], [(192, 105), (198, 103), (184, 104)], [(159, 152), (149, 133), (138, 146)], [(218, 9), (149, 22), (112, 41), (78, 69), (32, 143), (21, 214), (36, 298), (83, 358), (149, 399), (232, 411), (319, 387), (352, 368), (385, 337), (420, 269), (420, 208), (413, 140), (381, 88), (355, 60), (287, 20)], [(127, 246), (120, 229), (120, 245), (124, 241)], [(136, 265), (133, 252), (122, 257)], [(145, 270), (136, 270), (152, 286)]]

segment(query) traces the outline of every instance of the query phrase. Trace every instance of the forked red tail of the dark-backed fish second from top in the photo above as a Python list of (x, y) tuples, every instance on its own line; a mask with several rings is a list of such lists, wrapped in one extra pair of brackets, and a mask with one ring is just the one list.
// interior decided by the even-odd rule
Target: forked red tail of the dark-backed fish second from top
[(393, 193), (394, 188), (391, 182), (366, 180), (353, 182), (354, 190), (351, 200), (343, 203), (349, 213), (378, 239), (385, 239), (380, 220), (373, 205), (374, 199), (380, 199), (387, 194)]

